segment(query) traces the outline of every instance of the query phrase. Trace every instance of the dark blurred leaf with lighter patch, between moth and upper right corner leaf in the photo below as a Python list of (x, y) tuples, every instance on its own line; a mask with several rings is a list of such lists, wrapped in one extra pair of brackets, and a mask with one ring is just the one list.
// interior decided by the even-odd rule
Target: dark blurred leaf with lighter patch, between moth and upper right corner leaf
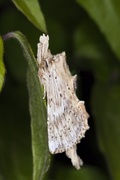
[(80, 67), (89, 68), (96, 79), (105, 81), (116, 71), (117, 61), (104, 37), (89, 18), (81, 23), (74, 35), (75, 54)]

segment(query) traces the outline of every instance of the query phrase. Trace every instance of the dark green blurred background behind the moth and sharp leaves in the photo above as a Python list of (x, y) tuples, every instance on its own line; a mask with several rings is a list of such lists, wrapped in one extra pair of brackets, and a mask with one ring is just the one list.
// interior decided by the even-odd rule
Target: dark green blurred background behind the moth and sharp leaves
[[(41, 0), (40, 5), (50, 36), (51, 52), (66, 52), (72, 74), (78, 75), (77, 95), (85, 101), (90, 114), (90, 129), (78, 144), (84, 166), (78, 172), (64, 153), (57, 154), (52, 156), (48, 179), (119, 179), (119, 58), (99, 26), (76, 1)], [(0, 2), (0, 34), (16, 30), (27, 37), (36, 55), (42, 33), (11, 1), (3, 0)], [(5, 43), (4, 63), (7, 73), (0, 94), (1, 179), (31, 179), (27, 64), (21, 48), (13, 40)]]

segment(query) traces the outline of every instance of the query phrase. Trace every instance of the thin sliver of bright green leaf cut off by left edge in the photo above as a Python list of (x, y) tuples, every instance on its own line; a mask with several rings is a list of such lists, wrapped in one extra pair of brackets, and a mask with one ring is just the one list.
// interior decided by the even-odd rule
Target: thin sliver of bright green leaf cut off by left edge
[(4, 76), (5, 76), (5, 67), (3, 63), (3, 41), (0, 36), (0, 91), (2, 90), (2, 86), (4, 83)]

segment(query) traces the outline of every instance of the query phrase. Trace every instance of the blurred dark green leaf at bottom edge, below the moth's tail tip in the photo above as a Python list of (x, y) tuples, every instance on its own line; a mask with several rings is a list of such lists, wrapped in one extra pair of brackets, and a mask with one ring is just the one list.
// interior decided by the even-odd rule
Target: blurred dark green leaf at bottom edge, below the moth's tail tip
[(70, 168), (60, 168), (56, 173), (57, 180), (108, 180), (107, 176), (99, 169), (90, 166), (84, 166), (81, 170), (76, 171)]

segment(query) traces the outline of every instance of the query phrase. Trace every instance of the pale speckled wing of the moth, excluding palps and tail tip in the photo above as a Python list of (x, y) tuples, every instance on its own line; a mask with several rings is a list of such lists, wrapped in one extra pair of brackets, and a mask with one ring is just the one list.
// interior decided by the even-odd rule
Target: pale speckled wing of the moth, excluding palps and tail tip
[(84, 102), (76, 97), (74, 76), (66, 73), (65, 58), (63, 54), (62, 58), (60, 57), (61, 55), (50, 67), (48, 66), (49, 87), (46, 87), (48, 139), (51, 153), (60, 153), (72, 148), (80, 142), (88, 129), (88, 114)]

